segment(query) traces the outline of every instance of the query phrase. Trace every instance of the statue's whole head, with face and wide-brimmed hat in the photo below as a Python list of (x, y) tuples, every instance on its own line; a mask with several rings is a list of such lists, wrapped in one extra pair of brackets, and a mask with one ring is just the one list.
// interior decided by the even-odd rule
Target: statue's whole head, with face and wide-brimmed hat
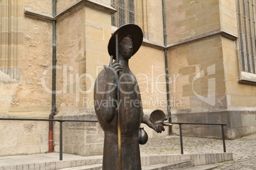
[[(120, 55), (131, 58), (140, 48), (143, 41), (143, 32), (138, 25), (127, 24), (117, 29), (108, 42), (108, 54), (116, 57), (115, 42), (118, 36), (118, 51)], [(131, 45), (131, 46), (130, 46)]]

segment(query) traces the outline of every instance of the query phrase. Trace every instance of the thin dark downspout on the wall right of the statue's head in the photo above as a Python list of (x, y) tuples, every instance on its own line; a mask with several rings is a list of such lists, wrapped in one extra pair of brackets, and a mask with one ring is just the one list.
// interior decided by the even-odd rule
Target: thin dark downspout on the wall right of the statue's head
[[(166, 4), (165, 0), (162, 0), (162, 23), (164, 29), (164, 46), (167, 47), (167, 34), (166, 34)], [(169, 90), (169, 67), (168, 67), (168, 53), (167, 48), (164, 49), (164, 59), (166, 65), (166, 97), (167, 97), (167, 112), (168, 112), (168, 119), (171, 122), (171, 101), (170, 101), (170, 90)], [(172, 129), (169, 126), (169, 135), (171, 135)]]

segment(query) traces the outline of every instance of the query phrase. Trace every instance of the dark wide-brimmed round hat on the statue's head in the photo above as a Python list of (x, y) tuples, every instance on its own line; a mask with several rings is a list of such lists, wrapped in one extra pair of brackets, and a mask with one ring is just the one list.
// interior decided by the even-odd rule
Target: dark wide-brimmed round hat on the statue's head
[(115, 39), (118, 34), (118, 42), (125, 36), (132, 38), (133, 50), (132, 56), (139, 50), (142, 41), (143, 41), (143, 32), (138, 25), (126, 24), (117, 29), (114, 34), (111, 36), (110, 41), (108, 42), (108, 54), (115, 59)]

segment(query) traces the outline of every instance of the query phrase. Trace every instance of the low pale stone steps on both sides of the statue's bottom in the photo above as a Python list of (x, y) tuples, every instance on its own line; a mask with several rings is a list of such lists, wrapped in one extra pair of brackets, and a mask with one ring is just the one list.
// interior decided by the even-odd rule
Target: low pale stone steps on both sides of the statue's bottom
[[(48, 154), (49, 155), (49, 154)], [(0, 169), (64, 169), (64, 170), (98, 170), (102, 169), (102, 156), (81, 157), (78, 155), (65, 154), (64, 160), (53, 160), (45, 155), (27, 155), (14, 157), (13, 164), (3, 166), (0, 161)], [(27, 157), (27, 158), (26, 158)], [(31, 158), (29, 158), (31, 157)], [(48, 158), (47, 158), (48, 157)], [(4, 162), (4, 158), (3, 162)], [(15, 160), (17, 159), (17, 160)], [(1, 158), (0, 158), (1, 160)], [(22, 160), (24, 160), (22, 162)], [(141, 155), (141, 166), (143, 170), (167, 170), (167, 169), (189, 169), (190, 167), (215, 164), (232, 160), (231, 153), (217, 154), (185, 154), (185, 155)], [(6, 158), (6, 162), (11, 162)], [(25, 162), (27, 161), (27, 162)], [(7, 165), (7, 164), (6, 164)]]

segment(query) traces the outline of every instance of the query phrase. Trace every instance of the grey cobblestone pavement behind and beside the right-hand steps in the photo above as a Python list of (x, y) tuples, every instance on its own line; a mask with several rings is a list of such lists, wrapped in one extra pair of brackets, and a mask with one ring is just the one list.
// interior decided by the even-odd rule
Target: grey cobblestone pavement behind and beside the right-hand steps
[[(233, 153), (233, 160), (222, 162), (220, 169), (256, 169), (256, 134), (237, 140), (225, 140), (227, 152)], [(180, 136), (164, 136), (162, 140), (149, 139), (141, 145), (141, 154), (180, 154)], [(184, 154), (223, 152), (222, 140), (183, 136)]]

